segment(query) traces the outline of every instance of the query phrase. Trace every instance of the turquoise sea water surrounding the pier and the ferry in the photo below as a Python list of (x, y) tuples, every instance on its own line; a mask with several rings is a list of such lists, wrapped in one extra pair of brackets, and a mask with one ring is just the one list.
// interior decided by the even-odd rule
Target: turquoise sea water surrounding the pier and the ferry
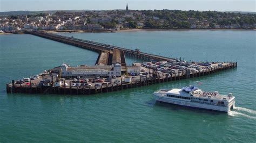
[[(187, 61), (237, 61), (209, 76), (91, 96), (6, 94), (12, 79), (62, 63), (94, 65), (98, 54), (28, 34), (0, 35), (0, 142), (255, 142), (256, 31), (58, 33)], [(127, 57), (131, 64), (136, 59)], [(232, 92), (229, 113), (156, 102), (152, 92), (203, 84)]]

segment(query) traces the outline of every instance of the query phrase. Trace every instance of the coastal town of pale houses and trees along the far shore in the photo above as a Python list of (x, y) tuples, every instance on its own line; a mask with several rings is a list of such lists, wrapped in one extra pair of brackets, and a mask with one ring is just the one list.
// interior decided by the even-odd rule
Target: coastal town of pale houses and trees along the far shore
[(256, 27), (255, 13), (181, 10), (84, 10), (33, 15), (0, 13), (0, 32), (116, 31), (143, 29), (249, 29)]

